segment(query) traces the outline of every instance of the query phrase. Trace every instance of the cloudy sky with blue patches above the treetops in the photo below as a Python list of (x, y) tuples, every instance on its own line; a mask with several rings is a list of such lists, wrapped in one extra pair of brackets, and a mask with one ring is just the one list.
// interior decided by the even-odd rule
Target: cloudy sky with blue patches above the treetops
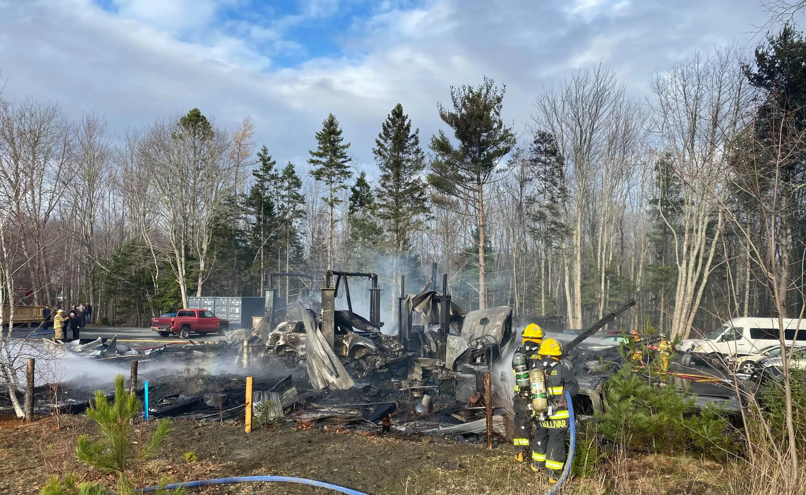
[(609, 65), (645, 97), (692, 52), (752, 51), (760, 0), (0, 0), (3, 97), (57, 101), (127, 129), (197, 107), (245, 116), (278, 163), (304, 165), (328, 113), (374, 175), (372, 146), (398, 102), (425, 146), (451, 86), (506, 85), (519, 135), (544, 89)]

